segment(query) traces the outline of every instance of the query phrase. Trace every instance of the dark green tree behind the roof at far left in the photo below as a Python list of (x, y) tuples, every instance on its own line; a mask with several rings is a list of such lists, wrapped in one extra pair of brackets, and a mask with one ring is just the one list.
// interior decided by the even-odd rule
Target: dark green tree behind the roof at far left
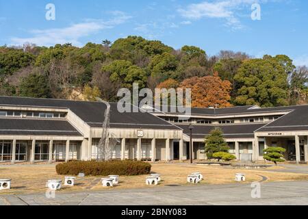
[(30, 74), (23, 78), (19, 86), (20, 96), (35, 98), (50, 98), (51, 91), (48, 86), (47, 77), (44, 75)]

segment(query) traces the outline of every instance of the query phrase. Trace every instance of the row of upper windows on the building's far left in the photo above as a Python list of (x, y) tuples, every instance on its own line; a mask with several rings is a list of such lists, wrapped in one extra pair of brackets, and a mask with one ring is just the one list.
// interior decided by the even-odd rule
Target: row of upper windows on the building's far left
[(32, 117), (32, 118), (65, 118), (66, 114), (57, 112), (0, 111), (0, 116)]

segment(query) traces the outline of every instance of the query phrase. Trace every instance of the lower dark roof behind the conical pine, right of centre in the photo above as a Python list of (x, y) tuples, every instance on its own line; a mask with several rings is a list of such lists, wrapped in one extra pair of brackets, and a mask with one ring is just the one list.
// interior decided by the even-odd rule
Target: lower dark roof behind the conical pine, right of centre
[[(178, 125), (183, 129), (183, 133), (189, 135), (189, 125)], [(215, 127), (222, 129), (225, 138), (253, 138), (254, 131), (263, 127), (264, 124), (247, 124), (247, 125), (194, 125), (192, 135), (194, 138), (204, 138)]]

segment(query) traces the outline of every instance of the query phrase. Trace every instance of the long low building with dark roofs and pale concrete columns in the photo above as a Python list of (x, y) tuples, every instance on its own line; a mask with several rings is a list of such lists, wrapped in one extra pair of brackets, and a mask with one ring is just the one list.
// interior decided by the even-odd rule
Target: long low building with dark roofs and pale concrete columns
[[(237, 159), (262, 160), (266, 147), (281, 146), (285, 159), (308, 162), (308, 105), (193, 108), (189, 119), (149, 106), (120, 113), (110, 105), (113, 159), (189, 159), (192, 123), (194, 159), (206, 158), (204, 138), (220, 127)], [(97, 159), (105, 109), (100, 102), (0, 96), (0, 162)]]

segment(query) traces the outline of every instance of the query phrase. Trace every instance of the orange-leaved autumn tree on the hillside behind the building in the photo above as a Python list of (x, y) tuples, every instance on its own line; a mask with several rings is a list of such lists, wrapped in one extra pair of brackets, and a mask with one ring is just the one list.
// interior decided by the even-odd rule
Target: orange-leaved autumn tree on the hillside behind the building
[(179, 88), (192, 89), (192, 107), (231, 107), (230, 81), (222, 81), (218, 73), (213, 76), (191, 77), (181, 82)]

